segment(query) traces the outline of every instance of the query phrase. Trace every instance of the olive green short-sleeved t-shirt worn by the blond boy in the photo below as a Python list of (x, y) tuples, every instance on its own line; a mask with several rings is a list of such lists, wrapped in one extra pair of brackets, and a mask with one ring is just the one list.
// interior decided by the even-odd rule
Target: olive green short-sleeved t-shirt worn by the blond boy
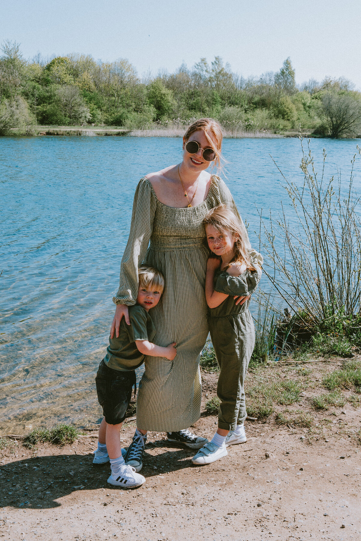
[(155, 337), (155, 327), (148, 312), (139, 305), (129, 306), (130, 325), (122, 318), (119, 337), (109, 337), (109, 346), (104, 362), (113, 370), (134, 370), (142, 364), (145, 355), (137, 349), (135, 340), (148, 340)]

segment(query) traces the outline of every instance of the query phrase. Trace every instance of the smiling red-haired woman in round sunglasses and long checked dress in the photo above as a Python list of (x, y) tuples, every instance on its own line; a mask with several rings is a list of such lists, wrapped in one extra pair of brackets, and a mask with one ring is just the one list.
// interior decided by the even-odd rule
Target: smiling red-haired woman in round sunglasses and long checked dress
[[(150, 314), (156, 328), (154, 342), (159, 346), (177, 344), (173, 361), (152, 357), (145, 361), (137, 397), (137, 431), (127, 453), (127, 464), (136, 471), (142, 467), (147, 430), (167, 432), (168, 440), (191, 448), (207, 443), (206, 438), (197, 438), (187, 430), (200, 418), (199, 359), (208, 336), (208, 251), (202, 221), (208, 210), (222, 203), (239, 217), (225, 183), (206, 171), (211, 162), (220, 167), (221, 144), (218, 122), (197, 120), (183, 137), (182, 162), (146, 175), (136, 188), (120, 287), (113, 298), (117, 306), (110, 336), (113, 338), (114, 332), (118, 335), (123, 316), (129, 324), (128, 306), (135, 304), (138, 291), (137, 268), (147, 262), (159, 269), (166, 281), (162, 299)], [(251, 249), (242, 221), (241, 226), (251, 259), (262, 263), (261, 256)]]

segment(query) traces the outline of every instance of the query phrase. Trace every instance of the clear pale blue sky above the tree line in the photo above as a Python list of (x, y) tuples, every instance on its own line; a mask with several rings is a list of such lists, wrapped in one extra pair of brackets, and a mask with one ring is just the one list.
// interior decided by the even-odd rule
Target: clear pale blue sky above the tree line
[(0, 0), (0, 42), (25, 57), (128, 58), (140, 75), (215, 55), (244, 76), (291, 57), (298, 83), (344, 76), (361, 89), (359, 0)]

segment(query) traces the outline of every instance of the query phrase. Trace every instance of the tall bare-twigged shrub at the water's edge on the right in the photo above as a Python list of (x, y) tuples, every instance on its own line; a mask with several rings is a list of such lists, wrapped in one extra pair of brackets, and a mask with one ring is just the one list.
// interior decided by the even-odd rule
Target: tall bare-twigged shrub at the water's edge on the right
[[(318, 178), (310, 141), (307, 154), (303, 145), (302, 149), (303, 186), (282, 175), (296, 227), (289, 227), (285, 211), (277, 218), (271, 213), (267, 222), (261, 217), (268, 260), (264, 272), (306, 325), (316, 331), (327, 320), (337, 332), (337, 314), (352, 320), (360, 309), (360, 200), (353, 192), (352, 170), (345, 193), (340, 178), (326, 181), (323, 173)], [(325, 163), (325, 150), (323, 157)], [(282, 251), (277, 248), (280, 243)]]

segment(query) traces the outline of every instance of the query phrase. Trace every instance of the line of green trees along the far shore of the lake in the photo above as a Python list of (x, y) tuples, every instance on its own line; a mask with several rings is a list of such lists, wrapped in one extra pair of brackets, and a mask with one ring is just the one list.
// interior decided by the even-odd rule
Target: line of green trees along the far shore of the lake
[(26, 60), (16, 42), (5, 41), (0, 56), (0, 134), (35, 125), (119, 126), (187, 124), (212, 116), (237, 131), (352, 137), (361, 131), (361, 93), (350, 81), (326, 77), (296, 84), (290, 58), (278, 72), (242, 77), (219, 56), (192, 68), (139, 77), (125, 58), (95, 61), (70, 54)]

